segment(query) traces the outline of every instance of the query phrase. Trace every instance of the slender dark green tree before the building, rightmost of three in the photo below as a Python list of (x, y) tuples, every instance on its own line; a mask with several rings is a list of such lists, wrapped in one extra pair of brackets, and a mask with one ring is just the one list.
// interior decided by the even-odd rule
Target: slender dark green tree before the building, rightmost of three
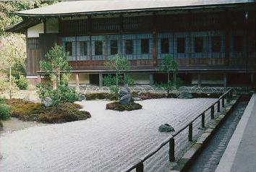
[[(166, 90), (167, 97), (170, 97), (170, 91), (173, 89), (173, 87), (179, 87), (181, 84), (181, 80), (176, 78), (178, 69), (179, 64), (176, 59), (174, 59), (173, 55), (168, 54), (163, 56), (159, 70), (167, 74), (167, 83), (161, 85)], [(171, 74), (173, 75), (173, 79), (170, 79)]]

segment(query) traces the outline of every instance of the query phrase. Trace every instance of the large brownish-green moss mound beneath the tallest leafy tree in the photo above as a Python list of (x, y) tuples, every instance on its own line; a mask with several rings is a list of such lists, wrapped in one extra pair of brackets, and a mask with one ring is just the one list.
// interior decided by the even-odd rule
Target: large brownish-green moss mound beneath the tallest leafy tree
[(33, 103), (22, 99), (12, 100), (12, 116), (23, 121), (55, 124), (90, 118), (90, 113), (78, 111), (80, 108), (81, 106), (75, 103), (64, 103), (59, 108), (46, 108), (42, 103)]

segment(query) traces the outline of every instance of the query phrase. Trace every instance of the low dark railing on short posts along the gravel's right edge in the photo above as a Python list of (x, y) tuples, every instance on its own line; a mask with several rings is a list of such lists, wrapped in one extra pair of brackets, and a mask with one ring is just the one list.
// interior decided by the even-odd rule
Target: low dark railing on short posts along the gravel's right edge
[(189, 128), (189, 132), (188, 132), (188, 140), (189, 142), (193, 141), (193, 122), (195, 120), (197, 120), (198, 118), (201, 117), (201, 126), (202, 128), (205, 128), (205, 113), (206, 111), (210, 110), (210, 119), (214, 119), (215, 118), (215, 108), (214, 106), (217, 104), (217, 112), (221, 111), (221, 107), (224, 108), (225, 106), (225, 99), (226, 102), (229, 102), (230, 98), (231, 98), (231, 93), (232, 93), (232, 88), (229, 89), (228, 91), (226, 91), (226, 93), (224, 93), (223, 95), (221, 95), (220, 98), (218, 98), (218, 100), (216, 100), (216, 102), (214, 102), (211, 106), (209, 106), (208, 108), (205, 109), (205, 111), (202, 111), (202, 113), (200, 113), (199, 115), (197, 115), (195, 117), (195, 119), (192, 119), (191, 121), (189, 121), (189, 123), (182, 127), (182, 129), (179, 129), (179, 131), (175, 132), (174, 134), (171, 134), (170, 137), (168, 137), (167, 139), (165, 139), (161, 145), (158, 145), (158, 147), (155, 147), (154, 150), (152, 150), (151, 152), (149, 152), (147, 155), (145, 155), (144, 157), (140, 158), (139, 160), (137, 160), (137, 163), (134, 163), (133, 165), (129, 166), (125, 172), (129, 172), (132, 171), (134, 169), (136, 169), (136, 172), (143, 172), (144, 171), (144, 162), (145, 160), (148, 160), (148, 158), (150, 158), (151, 156), (155, 155), (156, 152), (158, 152), (159, 150), (161, 150), (161, 148), (163, 146), (165, 146), (167, 143), (169, 144), (169, 161), (170, 162), (174, 162), (175, 161), (175, 137), (180, 134), (181, 132), (184, 131), (184, 129), (187, 129), (187, 127)]

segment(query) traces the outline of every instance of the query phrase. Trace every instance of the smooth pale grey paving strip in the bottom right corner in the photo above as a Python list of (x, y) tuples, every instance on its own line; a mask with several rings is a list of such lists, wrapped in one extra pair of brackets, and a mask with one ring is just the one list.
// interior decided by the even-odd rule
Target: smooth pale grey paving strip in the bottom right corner
[(256, 171), (256, 94), (252, 95), (216, 172)]

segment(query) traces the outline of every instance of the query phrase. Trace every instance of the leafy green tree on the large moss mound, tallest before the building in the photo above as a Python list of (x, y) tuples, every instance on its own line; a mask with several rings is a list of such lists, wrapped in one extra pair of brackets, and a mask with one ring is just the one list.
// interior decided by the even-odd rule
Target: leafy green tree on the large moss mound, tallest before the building
[(74, 88), (68, 87), (71, 67), (68, 64), (68, 54), (62, 51), (61, 46), (55, 44), (46, 54), (46, 60), (40, 62), (40, 66), (54, 82), (54, 89), (48, 83), (38, 85), (38, 95), (41, 100), (51, 98), (51, 106), (57, 107), (60, 103), (72, 103), (78, 100), (78, 93)]

